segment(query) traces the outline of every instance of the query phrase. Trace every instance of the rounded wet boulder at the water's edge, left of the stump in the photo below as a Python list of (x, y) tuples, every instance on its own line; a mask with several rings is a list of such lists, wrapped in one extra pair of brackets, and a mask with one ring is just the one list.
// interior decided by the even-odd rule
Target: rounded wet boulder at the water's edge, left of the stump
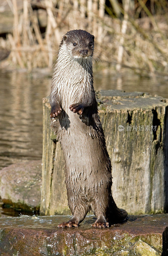
[(37, 211), (41, 198), (41, 160), (12, 164), (0, 171), (0, 196), (5, 205)]

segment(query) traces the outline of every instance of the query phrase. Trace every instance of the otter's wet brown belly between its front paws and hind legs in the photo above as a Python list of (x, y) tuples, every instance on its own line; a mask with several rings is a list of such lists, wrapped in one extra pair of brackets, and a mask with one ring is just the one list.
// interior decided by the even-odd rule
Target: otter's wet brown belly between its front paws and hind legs
[[(60, 143), (66, 164), (66, 180), (88, 190), (95, 190), (111, 182), (109, 158), (102, 141), (89, 134), (89, 127), (80, 120), (79, 115), (68, 111), (69, 127), (61, 129)], [(78, 183), (77, 182), (77, 183)]]

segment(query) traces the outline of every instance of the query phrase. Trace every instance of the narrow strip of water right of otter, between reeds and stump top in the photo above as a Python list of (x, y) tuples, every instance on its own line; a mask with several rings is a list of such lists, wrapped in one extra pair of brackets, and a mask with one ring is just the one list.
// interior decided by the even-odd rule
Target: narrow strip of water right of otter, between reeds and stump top
[(168, 76), (144, 77), (132, 73), (116, 74), (103, 70), (94, 75), (94, 88), (98, 90), (124, 90), (126, 92), (149, 92), (168, 98)]

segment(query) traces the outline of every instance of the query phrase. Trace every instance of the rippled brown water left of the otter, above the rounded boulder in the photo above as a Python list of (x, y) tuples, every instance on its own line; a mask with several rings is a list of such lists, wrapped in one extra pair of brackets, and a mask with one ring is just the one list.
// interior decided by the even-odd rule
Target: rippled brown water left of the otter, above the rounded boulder
[(0, 167), (42, 155), (42, 98), (51, 79), (0, 73)]

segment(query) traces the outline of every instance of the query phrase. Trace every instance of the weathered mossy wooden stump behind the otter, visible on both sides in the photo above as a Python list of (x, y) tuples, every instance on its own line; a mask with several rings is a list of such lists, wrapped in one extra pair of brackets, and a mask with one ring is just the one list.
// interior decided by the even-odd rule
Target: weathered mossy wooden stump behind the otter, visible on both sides
[[(168, 208), (168, 100), (143, 92), (117, 90), (97, 92), (97, 99), (112, 161), (112, 193), (116, 204), (130, 214), (165, 212)], [(68, 214), (64, 157), (50, 128), (48, 98), (43, 99), (43, 110), (40, 212)]]

